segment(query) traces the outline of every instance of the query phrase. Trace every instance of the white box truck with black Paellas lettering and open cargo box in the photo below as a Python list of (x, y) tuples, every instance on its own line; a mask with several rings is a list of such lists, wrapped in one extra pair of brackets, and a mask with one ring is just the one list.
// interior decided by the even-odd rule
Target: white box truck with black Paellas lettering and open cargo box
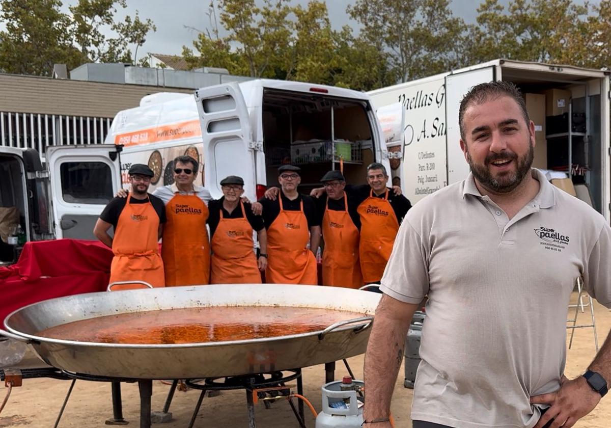
[(529, 111), (531, 119), (543, 117), (535, 120), (534, 165), (587, 185), (593, 206), (609, 220), (609, 72), (568, 65), (497, 59), (369, 92), (390, 155), (396, 157), (392, 175), (405, 196), (413, 204), (466, 178), (460, 101), (476, 84), (501, 80), (513, 82), (523, 94), (544, 96), (543, 106)]

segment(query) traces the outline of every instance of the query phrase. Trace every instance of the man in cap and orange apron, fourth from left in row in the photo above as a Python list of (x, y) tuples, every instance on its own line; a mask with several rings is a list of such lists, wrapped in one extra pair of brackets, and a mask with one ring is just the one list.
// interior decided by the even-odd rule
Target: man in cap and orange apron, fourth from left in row
[(268, 235), (265, 279), (269, 283), (318, 284), (314, 254), (320, 244), (320, 221), (312, 197), (297, 191), (300, 171), (297, 166), (280, 166), (280, 197), (259, 200)]

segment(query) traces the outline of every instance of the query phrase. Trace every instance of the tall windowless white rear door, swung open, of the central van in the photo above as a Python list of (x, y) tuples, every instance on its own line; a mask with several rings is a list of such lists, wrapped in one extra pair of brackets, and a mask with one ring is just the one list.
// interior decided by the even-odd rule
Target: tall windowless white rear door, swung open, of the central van
[(213, 197), (227, 175), (244, 179), (244, 194), (255, 198), (255, 144), (246, 102), (237, 83), (205, 87), (195, 93), (202, 127), (204, 182)]

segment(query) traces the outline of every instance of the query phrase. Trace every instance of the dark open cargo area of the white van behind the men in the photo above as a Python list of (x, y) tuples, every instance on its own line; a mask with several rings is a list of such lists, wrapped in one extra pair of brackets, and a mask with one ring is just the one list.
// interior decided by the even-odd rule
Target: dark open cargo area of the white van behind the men
[[(365, 180), (373, 162), (367, 103), (277, 89), (263, 92), (263, 150), (268, 186), (277, 183), (277, 168), (302, 168), (301, 191), (320, 186), (330, 169), (340, 169), (351, 183)], [(307, 168), (304, 168), (307, 166)]]

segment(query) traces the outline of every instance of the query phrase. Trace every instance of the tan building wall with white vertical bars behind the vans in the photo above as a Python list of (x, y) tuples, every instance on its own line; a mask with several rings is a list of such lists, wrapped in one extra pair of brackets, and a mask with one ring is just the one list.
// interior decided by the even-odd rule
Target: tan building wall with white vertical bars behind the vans
[(36, 149), (44, 160), (48, 146), (101, 144), (115, 114), (156, 92), (194, 90), (0, 73), (0, 146)]

